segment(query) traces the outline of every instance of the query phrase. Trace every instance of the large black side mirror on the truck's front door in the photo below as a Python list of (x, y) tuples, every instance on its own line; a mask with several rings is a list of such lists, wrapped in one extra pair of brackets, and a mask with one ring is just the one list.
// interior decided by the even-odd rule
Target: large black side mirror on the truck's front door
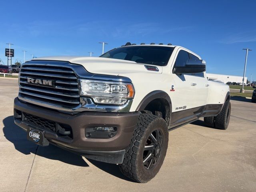
[(177, 66), (173, 68), (173, 73), (202, 73), (205, 72), (206, 62), (200, 59), (188, 59), (185, 66)]

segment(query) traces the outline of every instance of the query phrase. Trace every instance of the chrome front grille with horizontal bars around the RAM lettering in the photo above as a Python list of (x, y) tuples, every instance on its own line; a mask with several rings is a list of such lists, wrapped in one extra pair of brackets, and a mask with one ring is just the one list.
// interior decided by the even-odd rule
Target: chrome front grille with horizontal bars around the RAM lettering
[[(44, 63), (45, 62), (45, 63)], [(75, 108), (80, 104), (76, 74), (68, 65), (28, 62), (22, 64), (19, 79), (19, 98), (27, 102)], [(56, 63), (56, 62), (55, 62)], [(58, 63), (58, 62), (57, 62)], [(29, 83), (28, 78), (52, 80), (54, 86)]]

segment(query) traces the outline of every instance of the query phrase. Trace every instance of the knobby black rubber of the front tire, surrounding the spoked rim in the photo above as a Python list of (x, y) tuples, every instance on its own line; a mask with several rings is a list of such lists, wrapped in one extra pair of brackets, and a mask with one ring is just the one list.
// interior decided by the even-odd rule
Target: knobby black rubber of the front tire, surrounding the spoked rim
[[(156, 131), (162, 134), (161, 144), (159, 144), (161, 149), (154, 166), (146, 169), (143, 162), (145, 145), (148, 143), (151, 134)], [(163, 118), (147, 113), (140, 114), (131, 143), (124, 155), (124, 161), (119, 164), (120, 171), (136, 182), (146, 183), (150, 181), (156, 176), (164, 162), (168, 148), (168, 137), (168, 126)]]

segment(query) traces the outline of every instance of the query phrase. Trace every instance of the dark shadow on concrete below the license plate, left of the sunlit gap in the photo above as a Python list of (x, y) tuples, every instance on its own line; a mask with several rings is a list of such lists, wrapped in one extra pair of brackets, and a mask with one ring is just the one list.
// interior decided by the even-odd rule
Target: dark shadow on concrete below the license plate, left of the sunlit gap
[[(67, 164), (75, 166), (87, 167), (88, 164), (83, 160), (82, 156), (73, 154), (61, 148), (53, 145), (47, 147), (41, 147), (28, 141), (26, 139), (26, 132), (14, 123), (13, 116), (4, 118), (4, 136), (5, 138), (14, 144), (14, 147), (19, 152), (27, 154), (35, 154), (44, 158), (59, 160)], [(23, 141), (23, 142), (22, 142)], [(37, 150), (36, 150), (37, 148)]]

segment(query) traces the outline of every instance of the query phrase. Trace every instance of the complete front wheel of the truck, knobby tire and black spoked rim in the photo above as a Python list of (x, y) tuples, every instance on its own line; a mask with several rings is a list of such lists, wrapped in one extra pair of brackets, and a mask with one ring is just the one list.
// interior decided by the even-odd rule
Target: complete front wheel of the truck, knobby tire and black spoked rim
[(128, 178), (146, 183), (159, 172), (168, 148), (168, 126), (159, 116), (142, 113), (126, 149), (120, 171)]

